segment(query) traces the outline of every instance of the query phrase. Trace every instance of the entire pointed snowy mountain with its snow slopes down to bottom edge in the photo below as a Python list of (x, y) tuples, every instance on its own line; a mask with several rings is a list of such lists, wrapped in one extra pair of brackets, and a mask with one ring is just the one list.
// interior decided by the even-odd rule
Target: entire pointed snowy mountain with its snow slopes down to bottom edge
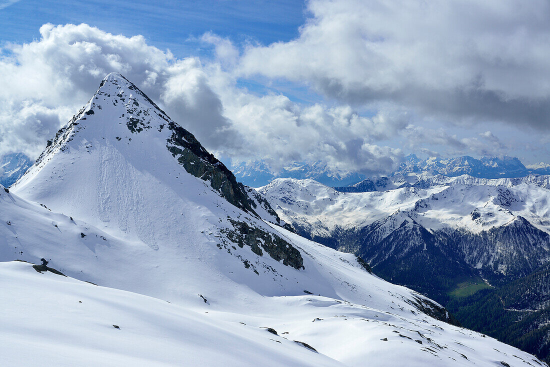
[[(206, 365), (257, 365), (264, 353), (276, 360), (269, 365), (532, 363), (428, 316), (453, 321), (354, 255), (273, 224), (262, 200), (133, 84), (109, 74), (13, 189), (0, 187), (0, 260), (43, 257), (69, 277), (141, 295), (3, 263), (1, 302), (12, 304), (0, 314), (9, 326), (3, 341), (56, 365), (74, 365), (76, 352), (113, 364), (195, 365), (188, 354), (196, 348)], [(91, 309), (78, 311), (75, 294)], [(21, 309), (29, 311), (14, 317)], [(112, 332), (127, 334), (113, 340)]]

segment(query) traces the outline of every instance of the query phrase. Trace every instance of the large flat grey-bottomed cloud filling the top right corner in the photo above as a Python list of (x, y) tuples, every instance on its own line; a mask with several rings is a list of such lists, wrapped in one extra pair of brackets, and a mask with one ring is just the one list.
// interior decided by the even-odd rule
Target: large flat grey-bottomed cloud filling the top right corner
[(546, 0), (311, 0), (289, 42), (251, 46), (242, 75), (286, 78), (351, 105), (458, 123), (550, 123)]

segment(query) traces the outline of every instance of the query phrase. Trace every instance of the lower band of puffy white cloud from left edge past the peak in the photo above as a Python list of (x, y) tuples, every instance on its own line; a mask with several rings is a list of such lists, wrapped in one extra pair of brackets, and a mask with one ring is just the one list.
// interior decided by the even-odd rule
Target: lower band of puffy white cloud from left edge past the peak
[(383, 146), (409, 124), (387, 108), (367, 118), (349, 106), (302, 106), (281, 94), (239, 88), (227, 68), (238, 51), (226, 39), (202, 37), (216, 61), (175, 58), (142, 36), (113, 35), (86, 24), (43, 25), (41, 38), (5, 46), (0, 58), (0, 155), (36, 157), (47, 139), (83, 106), (109, 72), (138, 85), (208, 149), (234, 160), (324, 161), (337, 171), (387, 172), (401, 159)]

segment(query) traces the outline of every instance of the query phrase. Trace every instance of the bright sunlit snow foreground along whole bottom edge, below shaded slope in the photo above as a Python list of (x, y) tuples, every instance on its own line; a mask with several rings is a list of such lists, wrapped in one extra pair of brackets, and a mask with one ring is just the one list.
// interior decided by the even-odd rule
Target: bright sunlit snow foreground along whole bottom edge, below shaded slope
[[(0, 287), (10, 301), (0, 315), (5, 365), (543, 365), (492, 338), (438, 328), (426, 317), (411, 323), (313, 295), (274, 298), (261, 312), (242, 314), (202, 300), (181, 306), (38, 273), (17, 261), (0, 263)], [(306, 339), (324, 353), (294, 341)]]

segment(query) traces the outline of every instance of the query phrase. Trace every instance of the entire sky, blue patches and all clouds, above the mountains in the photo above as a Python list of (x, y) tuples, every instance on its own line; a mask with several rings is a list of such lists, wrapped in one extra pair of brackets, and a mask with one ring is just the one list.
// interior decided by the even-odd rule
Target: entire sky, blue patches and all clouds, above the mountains
[(548, 162), (548, 17), (544, 0), (0, 0), (0, 83), (34, 88), (0, 92), (0, 154), (36, 155), (120, 71), (234, 160), (372, 174), (410, 152)]

